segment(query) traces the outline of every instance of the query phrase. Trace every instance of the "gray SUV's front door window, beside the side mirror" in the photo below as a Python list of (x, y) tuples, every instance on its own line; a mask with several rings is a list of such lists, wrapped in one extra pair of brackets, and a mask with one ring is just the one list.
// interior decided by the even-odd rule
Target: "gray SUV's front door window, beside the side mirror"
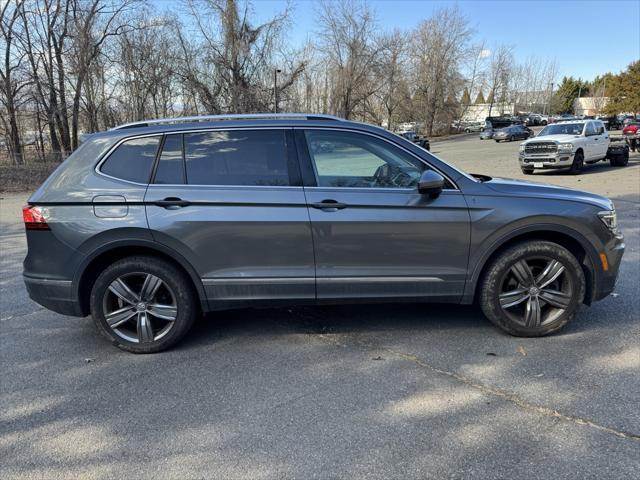
[(320, 187), (415, 188), (427, 168), (370, 135), (306, 130), (305, 136)]

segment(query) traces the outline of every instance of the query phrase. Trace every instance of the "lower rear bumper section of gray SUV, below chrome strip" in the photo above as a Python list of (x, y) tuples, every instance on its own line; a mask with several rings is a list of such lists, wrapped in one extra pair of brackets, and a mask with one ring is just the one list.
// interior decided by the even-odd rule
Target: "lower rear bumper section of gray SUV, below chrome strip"
[(71, 280), (53, 280), (28, 275), (23, 275), (23, 279), (33, 301), (62, 315), (84, 316)]

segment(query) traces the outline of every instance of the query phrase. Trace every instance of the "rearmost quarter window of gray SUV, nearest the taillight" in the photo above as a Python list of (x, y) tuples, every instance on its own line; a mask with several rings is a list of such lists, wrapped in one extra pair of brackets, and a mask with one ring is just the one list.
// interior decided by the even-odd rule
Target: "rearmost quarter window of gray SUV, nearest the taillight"
[(121, 180), (148, 183), (159, 144), (159, 136), (126, 140), (109, 155), (100, 171)]

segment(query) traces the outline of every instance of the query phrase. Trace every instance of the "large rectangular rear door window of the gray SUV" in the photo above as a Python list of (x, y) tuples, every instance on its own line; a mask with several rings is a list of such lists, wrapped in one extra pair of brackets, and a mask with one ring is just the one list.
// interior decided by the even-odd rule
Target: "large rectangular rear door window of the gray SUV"
[(192, 185), (290, 185), (284, 130), (188, 133), (184, 153)]

